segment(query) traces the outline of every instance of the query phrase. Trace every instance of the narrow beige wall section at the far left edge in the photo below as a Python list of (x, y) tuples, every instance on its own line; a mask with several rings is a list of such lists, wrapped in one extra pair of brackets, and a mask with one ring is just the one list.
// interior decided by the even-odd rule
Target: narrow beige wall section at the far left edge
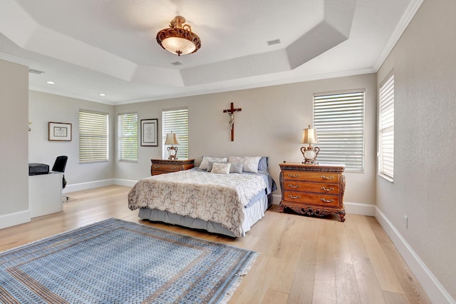
[[(28, 211), (28, 68), (0, 60), (0, 228)], [(2, 223), (3, 222), (3, 223)]]

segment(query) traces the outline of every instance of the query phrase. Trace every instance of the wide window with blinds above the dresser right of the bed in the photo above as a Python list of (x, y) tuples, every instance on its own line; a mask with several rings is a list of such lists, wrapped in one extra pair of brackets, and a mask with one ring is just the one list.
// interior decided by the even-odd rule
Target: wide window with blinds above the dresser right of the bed
[(364, 171), (364, 91), (314, 95), (318, 162)]

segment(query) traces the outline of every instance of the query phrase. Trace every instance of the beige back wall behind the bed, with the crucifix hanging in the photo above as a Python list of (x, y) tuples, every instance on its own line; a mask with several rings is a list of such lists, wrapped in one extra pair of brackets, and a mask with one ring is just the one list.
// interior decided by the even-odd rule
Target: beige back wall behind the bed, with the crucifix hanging
[[(202, 96), (115, 106), (115, 113), (138, 111), (139, 119), (158, 118), (162, 108), (189, 109), (189, 157), (269, 156), (269, 168), (279, 183), (279, 163), (301, 162), (302, 129), (312, 123), (313, 93), (366, 89), (366, 170), (346, 173), (346, 202), (375, 203), (376, 76), (366, 74), (321, 81), (293, 83)], [(230, 103), (242, 108), (235, 114), (234, 141), (230, 141)], [(161, 141), (161, 128), (159, 128)], [(140, 147), (138, 163), (118, 163), (116, 178), (136, 181), (150, 175), (150, 158), (161, 158), (159, 147)], [(276, 197), (280, 192), (276, 191)]]

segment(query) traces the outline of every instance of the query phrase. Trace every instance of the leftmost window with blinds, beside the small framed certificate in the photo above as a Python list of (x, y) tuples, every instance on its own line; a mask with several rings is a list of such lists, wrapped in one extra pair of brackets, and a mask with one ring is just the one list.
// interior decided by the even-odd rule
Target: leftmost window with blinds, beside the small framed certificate
[(79, 161), (108, 161), (108, 113), (79, 110)]

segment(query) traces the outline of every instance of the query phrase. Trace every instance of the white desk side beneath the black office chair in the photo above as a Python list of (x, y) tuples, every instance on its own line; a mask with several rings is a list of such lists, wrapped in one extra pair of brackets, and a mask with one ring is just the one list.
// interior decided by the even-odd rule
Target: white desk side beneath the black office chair
[(28, 210), (30, 217), (62, 211), (63, 173), (28, 176)]

